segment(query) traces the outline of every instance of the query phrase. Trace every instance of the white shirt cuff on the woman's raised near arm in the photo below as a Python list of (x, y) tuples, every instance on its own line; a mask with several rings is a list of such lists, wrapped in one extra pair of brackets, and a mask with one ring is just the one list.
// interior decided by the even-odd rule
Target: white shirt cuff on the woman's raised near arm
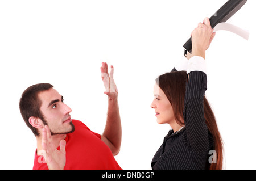
[(203, 57), (193, 56), (188, 60), (187, 73), (189, 74), (191, 71), (203, 71), (205, 74), (207, 73), (206, 63)]

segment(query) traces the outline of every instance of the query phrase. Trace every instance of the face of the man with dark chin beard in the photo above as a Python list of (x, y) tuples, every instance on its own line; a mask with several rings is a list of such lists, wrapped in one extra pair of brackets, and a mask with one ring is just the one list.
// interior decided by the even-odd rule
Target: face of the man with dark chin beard
[(75, 130), (69, 113), (72, 111), (63, 103), (63, 96), (51, 88), (38, 94), (42, 101), (40, 111), (52, 134), (66, 134)]

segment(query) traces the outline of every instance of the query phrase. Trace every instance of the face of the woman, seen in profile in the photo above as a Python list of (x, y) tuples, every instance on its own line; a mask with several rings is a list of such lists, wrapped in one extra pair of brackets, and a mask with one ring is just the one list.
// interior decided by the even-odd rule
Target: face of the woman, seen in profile
[(155, 109), (158, 124), (167, 123), (171, 125), (176, 122), (170, 101), (156, 83), (154, 85), (154, 100), (151, 103), (151, 108)]

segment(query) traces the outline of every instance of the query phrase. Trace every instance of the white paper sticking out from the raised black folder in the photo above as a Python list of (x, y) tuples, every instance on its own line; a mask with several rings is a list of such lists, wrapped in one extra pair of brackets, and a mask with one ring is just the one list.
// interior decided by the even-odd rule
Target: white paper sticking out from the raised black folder
[(214, 27), (214, 31), (219, 31), (219, 30), (226, 30), (226, 31), (230, 31), (233, 32), (241, 37), (243, 37), (244, 39), (248, 40), (249, 39), (249, 31), (247, 30), (243, 30), (240, 27), (234, 26), (233, 24), (230, 23), (218, 23), (215, 27)]

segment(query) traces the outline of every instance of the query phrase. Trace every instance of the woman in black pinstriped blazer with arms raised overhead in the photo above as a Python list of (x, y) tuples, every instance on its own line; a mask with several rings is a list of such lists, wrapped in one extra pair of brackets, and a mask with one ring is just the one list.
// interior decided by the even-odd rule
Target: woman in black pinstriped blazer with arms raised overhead
[(156, 79), (151, 107), (158, 123), (170, 124), (172, 130), (152, 159), (152, 169), (222, 169), (222, 141), (204, 96), (205, 50), (215, 35), (209, 19), (191, 35), (192, 53), (184, 61), (187, 72), (177, 71), (178, 66)]

